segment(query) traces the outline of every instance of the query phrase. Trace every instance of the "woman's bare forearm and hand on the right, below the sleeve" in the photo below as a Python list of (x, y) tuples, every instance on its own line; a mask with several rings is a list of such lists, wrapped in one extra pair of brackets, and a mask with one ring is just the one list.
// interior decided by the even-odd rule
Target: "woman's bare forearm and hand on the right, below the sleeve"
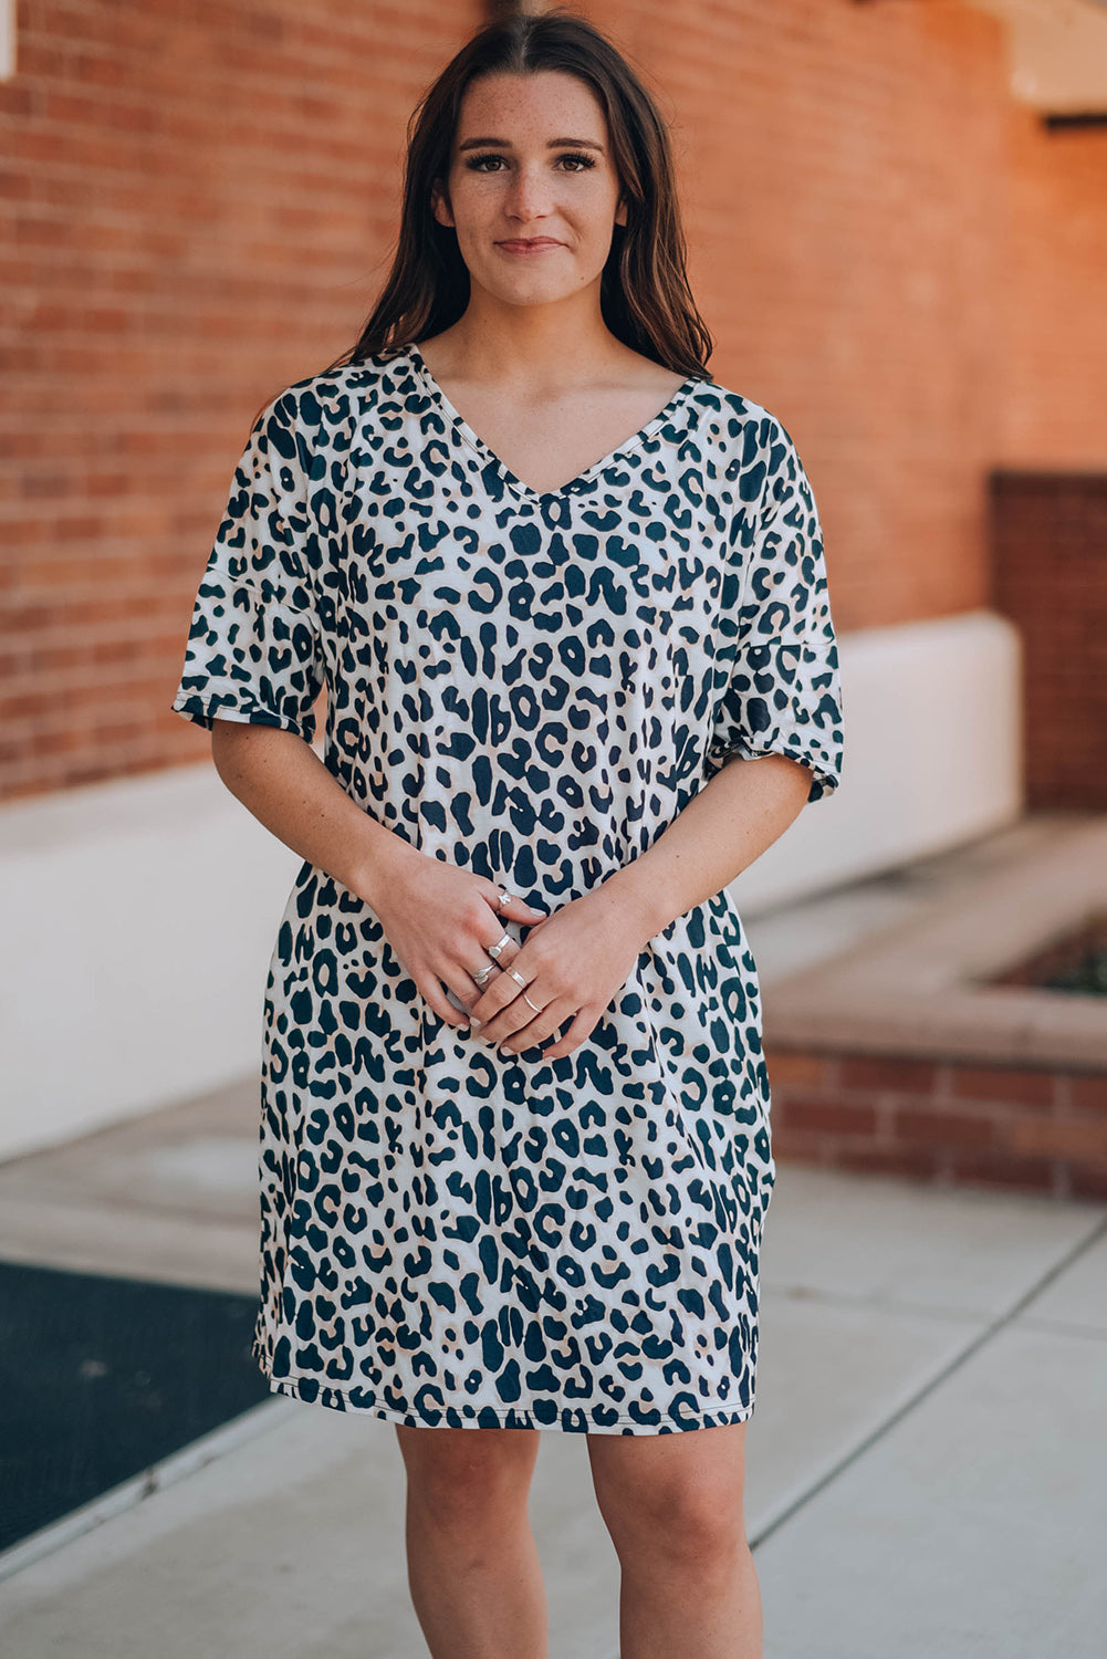
[(798, 816), (812, 773), (785, 755), (735, 757), (677, 813), (657, 839), (591, 893), (529, 929), (500, 966), (524, 974), (539, 1012), (510, 972), (470, 1005), (473, 1030), (524, 1053), (566, 1020), (544, 1058), (571, 1053), (594, 1030), (649, 941), (712, 898)]

